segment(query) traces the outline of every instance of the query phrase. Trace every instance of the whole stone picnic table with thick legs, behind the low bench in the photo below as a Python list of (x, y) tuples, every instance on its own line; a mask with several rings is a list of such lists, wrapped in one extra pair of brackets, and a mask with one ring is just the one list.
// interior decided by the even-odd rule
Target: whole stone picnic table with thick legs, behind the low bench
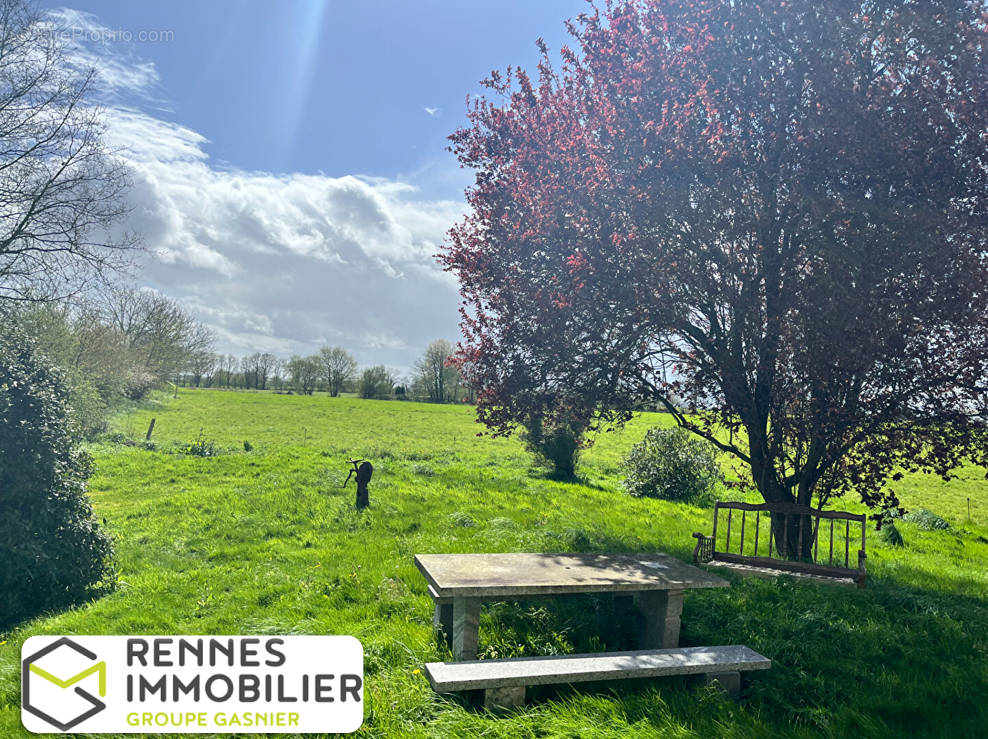
[(615, 611), (638, 596), (639, 649), (679, 646), (683, 592), (724, 588), (721, 577), (659, 552), (639, 554), (417, 554), (433, 619), (455, 660), (477, 657), (480, 604), (573, 593), (613, 593)]

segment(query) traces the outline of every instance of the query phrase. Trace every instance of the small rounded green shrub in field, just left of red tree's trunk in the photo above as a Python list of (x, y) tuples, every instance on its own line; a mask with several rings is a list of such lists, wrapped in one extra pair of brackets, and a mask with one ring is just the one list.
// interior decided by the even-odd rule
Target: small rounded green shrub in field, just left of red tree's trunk
[(624, 489), (635, 497), (696, 502), (724, 481), (713, 445), (681, 428), (649, 429), (624, 464)]

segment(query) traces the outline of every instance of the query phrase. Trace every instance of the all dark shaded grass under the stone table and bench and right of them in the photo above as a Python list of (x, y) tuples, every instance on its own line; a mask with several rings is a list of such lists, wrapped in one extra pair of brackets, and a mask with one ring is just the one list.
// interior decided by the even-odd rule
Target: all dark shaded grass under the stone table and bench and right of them
[[(900, 572), (904, 580), (927, 574)], [(728, 589), (687, 592), (681, 644), (745, 644), (769, 657), (771, 670), (746, 676), (742, 699), (749, 714), (780, 733), (983, 732), (988, 722), (986, 599), (891, 579), (852, 590), (785, 576), (726, 577), (733, 581)], [(948, 587), (978, 585), (952, 575)], [(480, 654), (504, 658), (634, 649), (635, 619), (633, 612), (615, 613), (613, 597), (607, 595), (491, 604), (482, 613)], [(695, 681), (682, 679), (615, 681), (544, 687), (530, 698), (612, 693), (626, 706), (640, 705), (638, 718), (647, 719), (648, 708), (639, 699), (648, 691), (658, 690), (672, 707), (692, 712), (696, 687)]]

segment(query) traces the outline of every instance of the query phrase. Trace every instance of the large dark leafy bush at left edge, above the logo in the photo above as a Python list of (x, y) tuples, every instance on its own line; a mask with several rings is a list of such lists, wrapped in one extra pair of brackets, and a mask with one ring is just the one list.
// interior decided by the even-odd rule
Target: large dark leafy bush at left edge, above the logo
[(34, 343), (0, 332), (0, 627), (115, 583), (68, 405), (66, 383)]

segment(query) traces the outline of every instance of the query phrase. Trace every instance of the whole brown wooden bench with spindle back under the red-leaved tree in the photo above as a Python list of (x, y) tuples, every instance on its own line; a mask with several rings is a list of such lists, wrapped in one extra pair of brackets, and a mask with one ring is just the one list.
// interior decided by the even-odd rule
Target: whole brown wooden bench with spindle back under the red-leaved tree
[[(721, 511), (727, 511), (727, 520), (718, 527)], [(835, 522), (838, 522), (836, 550)], [(864, 587), (866, 529), (867, 516), (864, 514), (823, 511), (795, 503), (718, 501), (714, 504), (713, 534), (693, 534), (697, 540), (693, 561), (728, 567), (742, 574), (772, 577), (790, 574)], [(822, 547), (821, 533), (824, 536)], [(852, 545), (851, 541), (857, 542), (859, 535), (861, 548), (857, 550), (855, 567), (851, 565), (851, 552), (856, 544)], [(731, 546), (732, 536), (734, 548)], [(765, 539), (768, 540), (767, 544)]]

